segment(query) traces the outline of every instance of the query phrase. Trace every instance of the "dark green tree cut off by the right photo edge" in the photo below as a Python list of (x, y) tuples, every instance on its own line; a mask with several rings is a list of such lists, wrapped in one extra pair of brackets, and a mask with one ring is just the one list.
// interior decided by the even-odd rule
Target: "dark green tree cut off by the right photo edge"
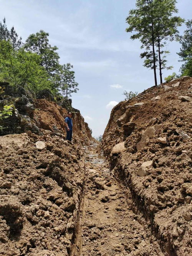
[(184, 62), (180, 68), (181, 75), (192, 76), (192, 20), (188, 20), (185, 24), (187, 29), (180, 37), (181, 48), (177, 54), (181, 58), (179, 61)]

